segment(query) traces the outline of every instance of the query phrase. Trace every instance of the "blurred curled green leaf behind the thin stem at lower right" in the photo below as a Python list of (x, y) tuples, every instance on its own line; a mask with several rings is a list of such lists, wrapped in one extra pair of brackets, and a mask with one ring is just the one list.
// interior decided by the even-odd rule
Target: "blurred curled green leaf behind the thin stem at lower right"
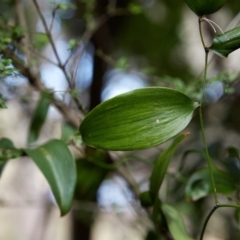
[[(218, 193), (228, 195), (235, 190), (235, 182), (227, 173), (214, 168), (213, 177)], [(209, 169), (203, 168), (195, 172), (190, 177), (185, 192), (187, 200), (193, 201), (213, 193)]]

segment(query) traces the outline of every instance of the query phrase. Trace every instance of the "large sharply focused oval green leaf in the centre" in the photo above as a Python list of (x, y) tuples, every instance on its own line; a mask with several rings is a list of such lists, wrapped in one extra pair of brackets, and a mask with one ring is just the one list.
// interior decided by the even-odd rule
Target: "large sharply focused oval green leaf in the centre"
[(80, 133), (96, 148), (151, 148), (181, 132), (195, 107), (188, 96), (173, 89), (138, 89), (98, 105), (83, 120)]

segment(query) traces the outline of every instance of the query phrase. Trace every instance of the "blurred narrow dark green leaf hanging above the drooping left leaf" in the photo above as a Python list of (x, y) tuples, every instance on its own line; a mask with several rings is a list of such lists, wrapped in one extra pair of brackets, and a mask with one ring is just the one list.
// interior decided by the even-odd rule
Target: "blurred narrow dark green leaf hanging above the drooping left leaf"
[(37, 107), (32, 117), (30, 131), (28, 135), (28, 142), (35, 142), (40, 134), (41, 128), (45, 122), (48, 108), (50, 105), (51, 95), (48, 92), (42, 92)]

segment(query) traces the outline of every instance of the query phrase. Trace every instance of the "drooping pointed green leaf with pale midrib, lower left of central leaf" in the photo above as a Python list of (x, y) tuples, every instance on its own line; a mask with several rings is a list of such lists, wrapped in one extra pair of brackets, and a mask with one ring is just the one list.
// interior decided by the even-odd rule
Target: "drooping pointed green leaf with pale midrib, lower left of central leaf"
[(46, 177), (61, 215), (65, 215), (71, 208), (77, 179), (75, 161), (68, 147), (60, 140), (51, 140), (25, 152)]

